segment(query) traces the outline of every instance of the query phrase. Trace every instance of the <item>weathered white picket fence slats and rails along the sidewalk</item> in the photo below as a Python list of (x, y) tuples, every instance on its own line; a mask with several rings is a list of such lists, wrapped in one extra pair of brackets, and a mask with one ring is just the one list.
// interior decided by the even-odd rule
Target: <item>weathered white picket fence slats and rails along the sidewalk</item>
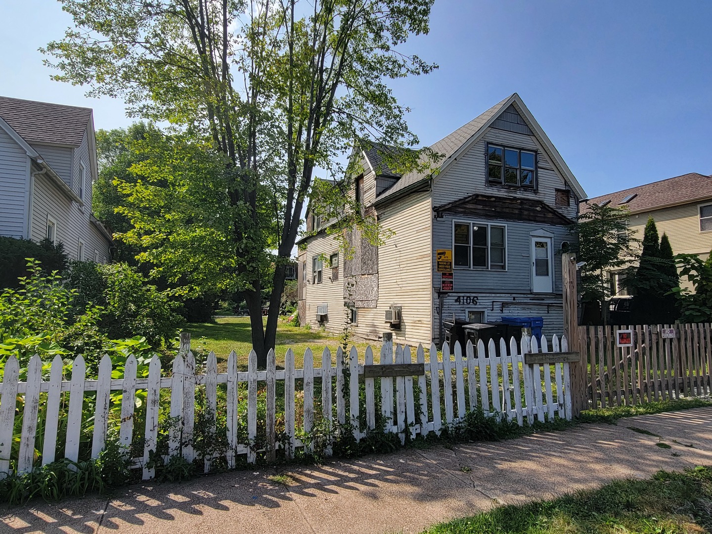
[[(531, 345), (530, 345), (531, 343)], [(499, 350), (497, 350), (497, 348)], [(567, 342), (562, 338), (561, 347), (556, 336), (552, 339), (551, 352), (566, 352)], [(68, 420), (64, 456), (77, 461), (80, 449), (82, 429), (82, 407), (85, 392), (95, 392), (96, 409), (93, 422), (92, 457), (96, 458), (105, 446), (110, 412), (110, 393), (122, 392), (120, 444), (130, 447), (134, 434), (134, 415), (136, 410), (135, 395), (137, 390), (147, 392), (145, 406), (145, 443), (144, 454), (133, 459), (135, 468), (143, 469), (145, 480), (155, 475), (150, 467), (150, 451), (157, 448), (159, 429), (159, 402), (162, 389), (170, 389), (170, 416), (178, 424), (169, 431), (169, 456), (180, 454), (188, 461), (194, 461), (196, 453), (192, 448), (190, 436), (193, 435), (195, 422), (196, 388), (205, 387), (205, 399), (208, 413), (216, 413), (216, 392), (219, 384), (226, 384), (226, 419), (229, 451), (226, 459), (229, 466), (234, 466), (236, 456), (246, 455), (250, 463), (256, 461), (258, 450), (258, 384), (266, 385), (266, 436), (261, 436), (266, 443), (268, 459), (274, 459), (276, 449), (283, 449), (286, 458), (293, 457), (295, 449), (313, 446), (313, 441), (304, 444), (297, 438), (295, 429), (295, 380), (303, 382), (303, 431), (309, 435), (315, 425), (315, 414), (320, 410), (330, 429), (343, 431), (350, 428), (355, 439), (360, 440), (368, 429), (375, 429), (376, 395), (380, 394), (381, 415), (386, 421), (386, 430), (399, 434), (402, 442), (406, 434), (414, 438), (417, 435), (435, 432), (439, 434), (446, 425), (456, 424), (465, 416), (468, 409), (481, 407), (485, 414), (492, 417), (506, 417), (523, 425), (535, 420), (545, 421), (557, 415), (571, 418), (571, 394), (569, 363), (528, 365), (524, 362), (526, 353), (550, 352), (548, 342), (542, 338), (538, 347), (536, 338), (524, 337), (521, 346), (512, 339), (509, 345), (500, 340), (499, 347), (489, 342), (488, 348), (480, 341), (477, 347), (468, 342), (465, 355), (462, 355), (459, 343), (454, 354), (447, 344), (443, 346), (439, 358), (435, 345), (431, 345), (426, 361), (425, 351), (419, 345), (415, 354), (411, 347), (398, 345), (393, 350), (391, 343), (385, 343), (380, 352), (379, 364), (374, 364), (373, 351), (367, 347), (365, 365), (358, 362), (357, 350), (352, 347), (347, 357), (339, 348), (336, 365), (332, 365), (332, 356), (328, 348), (322, 352), (321, 366), (314, 367), (311, 350), (304, 355), (304, 368), (295, 369), (294, 352), (286, 353), (285, 369), (276, 369), (273, 351), (268, 354), (267, 370), (258, 370), (255, 352), (248, 356), (248, 370), (238, 371), (238, 357), (232, 352), (228, 359), (225, 373), (217, 372), (214, 353), (206, 360), (204, 372), (198, 372), (192, 352), (185, 357), (179, 355), (172, 365), (170, 377), (161, 376), (161, 363), (158, 358), (150, 362), (147, 378), (137, 379), (137, 361), (129, 357), (125, 364), (124, 377), (112, 379), (110, 357), (105, 356), (100, 362), (98, 379), (85, 379), (85, 362), (78, 356), (73, 363), (71, 379), (63, 380), (63, 362), (55, 357), (48, 380), (43, 380), (42, 362), (35, 355), (27, 369), (27, 382), (19, 382), (19, 366), (15, 357), (6, 362), (4, 377), (0, 386), (0, 476), (11, 471), (11, 444), (16, 415), (18, 396), (23, 396), (21, 403), (23, 420), (19, 455), (16, 458), (16, 471), (31, 471), (34, 459), (40, 451), (35, 450), (38, 409), (40, 400), (46, 402), (43, 450), (41, 463), (55, 461), (58, 431), (58, 413), (63, 392), (69, 392)], [(497, 356), (500, 354), (501, 356)], [(413, 357), (415, 362), (413, 362)], [(415, 363), (415, 365), (413, 365)], [(419, 365), (418, 365), (419, 364)], [(553, 373), (552, 373), (553, 371)], [(542, 377), (543, 372), (543, 377)], [(394, 376), (396, 375), (396, 376)], [(328, 379), (323, 380), (323, 377)], [(375, 379), (380, 377), (380, 392), (375, 390)], [(332, 379), (335, 378), (335, 387)], [(320, 407), (315, 406), (315, 379), (322, 385)], [(345, 396), (345, 381), (349, 382), (349, 395)], [(285, 430), (286, 440), (276, 436), (276, 383), (284, 381)], [(365, 414), (360, 413), (359, 383), (365, 385)], [(238, 439), (238, 403), (239, 384), (247, 384), (247, 436), (246, 443)], [(414, 384), (417, 384), (415, 389)], [(466, 385), (467, 384), (467, 385)], [(414, 394), (420, 392), (419, 395)], [(428, 394), (429, 392), (429, 394)], [(523, 392), (523, 394), (522, 394)], [(46, 393), (46, 397), (41, 396)], [(93, 394), (93, 393), (92, 393)], [(419, 402), (416, 404), (415, 399)], [(339, 425), (333, 421), (335, 417)], [(348, 409), (347, 409), (348, 404)], [(348, 419), (347, 419), (348, 414)], [(362, 417), (365, 420), (362, 424)], [(328, 453), (328, 451), (327, 451)], [(211, 458), (204, 458), (205, 471), (209, 471)]]

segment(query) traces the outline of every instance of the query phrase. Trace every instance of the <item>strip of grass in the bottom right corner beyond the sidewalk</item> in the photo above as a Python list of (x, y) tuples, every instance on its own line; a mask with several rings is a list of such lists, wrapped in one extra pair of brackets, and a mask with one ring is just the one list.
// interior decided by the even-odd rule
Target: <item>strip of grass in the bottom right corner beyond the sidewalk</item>
[(424, 534), (706, 533), (712, 531), (712, 468), (659, 471), (553, 501), (500, 506)]

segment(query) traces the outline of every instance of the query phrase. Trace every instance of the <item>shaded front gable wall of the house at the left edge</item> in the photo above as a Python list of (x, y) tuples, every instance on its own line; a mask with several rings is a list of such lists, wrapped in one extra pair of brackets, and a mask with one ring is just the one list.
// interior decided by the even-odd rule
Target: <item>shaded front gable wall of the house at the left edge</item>
[(0, 129), (0, 235), (21, 238), (26, 220), (29, 157)]

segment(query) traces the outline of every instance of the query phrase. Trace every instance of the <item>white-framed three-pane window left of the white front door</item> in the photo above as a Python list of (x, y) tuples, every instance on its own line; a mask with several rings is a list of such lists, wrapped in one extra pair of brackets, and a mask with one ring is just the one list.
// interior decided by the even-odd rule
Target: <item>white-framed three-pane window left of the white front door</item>
[(453, 223), (455, 266), (505, 271), (507, 268), (506, 234), (506, 226), (455, 221)]

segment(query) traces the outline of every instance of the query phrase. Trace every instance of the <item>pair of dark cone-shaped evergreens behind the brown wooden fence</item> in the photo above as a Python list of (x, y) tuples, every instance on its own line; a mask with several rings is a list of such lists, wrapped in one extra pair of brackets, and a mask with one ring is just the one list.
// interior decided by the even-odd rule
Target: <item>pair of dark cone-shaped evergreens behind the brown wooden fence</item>
[(676, 298), (671, 291), (679, 286), (679, 276), (669, 239), (664, 235), (659, 240), (658, 235), (655, 221), (649, 217), (639, 266), (629, 281), (634, 295), (632, 322), (636, 324), (669, 324), (677, 319)]

